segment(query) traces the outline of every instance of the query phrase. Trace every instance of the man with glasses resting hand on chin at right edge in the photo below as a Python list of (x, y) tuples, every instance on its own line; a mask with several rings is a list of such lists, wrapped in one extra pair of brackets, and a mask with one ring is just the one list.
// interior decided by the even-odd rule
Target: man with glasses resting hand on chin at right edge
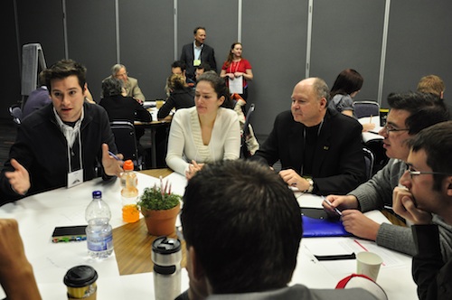
[[(409, 169), (400, 178), (403, 187), (393, 193), (394, 211), (414, 225), (418, 254), (412, 273), (419, 299), (450, 299), (452, 258), (443, 259), (440, 230), (434, 215), (452, 226), (452, 122), (422, 130), (410, 140)], [(444, 232), (441, 232), (444, 235)], [(447, 239), (452, 239), (449, 232)]]

